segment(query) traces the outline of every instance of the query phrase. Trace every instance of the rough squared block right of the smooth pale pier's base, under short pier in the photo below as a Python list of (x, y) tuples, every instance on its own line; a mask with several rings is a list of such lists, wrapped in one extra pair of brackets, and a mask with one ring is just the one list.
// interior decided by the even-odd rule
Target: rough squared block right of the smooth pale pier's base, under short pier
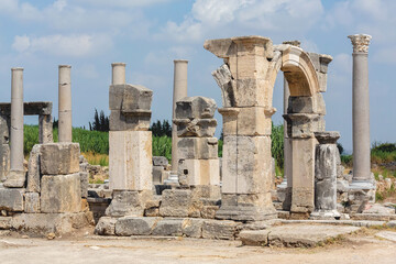
[(160, 215), (162, 217), (188, 217), (191, 191), (187, 189), (166, 189), (162, 195)]

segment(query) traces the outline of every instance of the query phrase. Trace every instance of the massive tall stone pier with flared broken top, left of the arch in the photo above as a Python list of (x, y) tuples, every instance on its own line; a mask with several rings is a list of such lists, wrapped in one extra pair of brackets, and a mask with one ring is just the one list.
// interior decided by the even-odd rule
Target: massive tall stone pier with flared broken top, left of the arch
[[(240, 221), (276, 218), (271, 189), (271, 117), (266, 74), (272, 41), (241, 36), (206, 41), (204, 47), (224, 59), (212, 75), (223, 100), (222, 195), (218, 219)], [(270, 87), (272, 90), (272, 87)]]

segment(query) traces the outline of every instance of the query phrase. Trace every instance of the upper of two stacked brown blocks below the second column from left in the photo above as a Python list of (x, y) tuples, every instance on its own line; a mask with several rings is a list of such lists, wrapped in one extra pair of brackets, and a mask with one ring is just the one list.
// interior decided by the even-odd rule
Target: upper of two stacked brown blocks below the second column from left
[(42, 175), (67, 175), (79, 172), (78, 143), (48, 143), (41, 146)]

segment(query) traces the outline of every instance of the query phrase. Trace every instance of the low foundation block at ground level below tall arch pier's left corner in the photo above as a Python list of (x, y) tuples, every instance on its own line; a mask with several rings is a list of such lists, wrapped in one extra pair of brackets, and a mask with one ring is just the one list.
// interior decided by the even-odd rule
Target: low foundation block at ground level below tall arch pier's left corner
[(234, 240), (238, 233), (238, 226), (234, 221), (206, 220), (202, 224), (204, 239)]

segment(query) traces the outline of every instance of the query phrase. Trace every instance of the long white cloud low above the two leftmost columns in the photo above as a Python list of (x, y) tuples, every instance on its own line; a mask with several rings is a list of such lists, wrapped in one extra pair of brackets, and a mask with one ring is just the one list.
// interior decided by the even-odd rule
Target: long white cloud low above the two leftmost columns
[(15, 36), (12, 48), (20, 53), (44, 53), (55, 56), (81, 57), (97, 54), (112, 46), (106, 35)]

